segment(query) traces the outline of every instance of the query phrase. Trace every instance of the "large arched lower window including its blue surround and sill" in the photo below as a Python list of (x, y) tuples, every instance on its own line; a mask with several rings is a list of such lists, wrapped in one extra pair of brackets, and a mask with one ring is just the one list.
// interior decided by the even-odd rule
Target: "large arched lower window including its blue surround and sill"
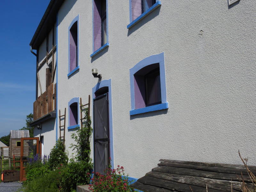
[(168, 108), (164, 53), (149, 56), (130, 69), (130, 115)]

